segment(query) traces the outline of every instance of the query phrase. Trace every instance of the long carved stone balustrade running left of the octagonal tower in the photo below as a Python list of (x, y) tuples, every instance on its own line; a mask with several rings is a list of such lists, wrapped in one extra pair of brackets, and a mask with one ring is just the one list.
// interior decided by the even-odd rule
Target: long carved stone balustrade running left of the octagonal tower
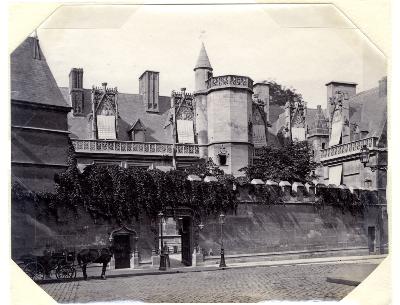
[[(172, 156), (172, 144), (168, 143), (73, 139), (72, 144), (79, 153)], [(197, 157), (199, 147), (197, 144), (176, 144), (176, 154)]]

